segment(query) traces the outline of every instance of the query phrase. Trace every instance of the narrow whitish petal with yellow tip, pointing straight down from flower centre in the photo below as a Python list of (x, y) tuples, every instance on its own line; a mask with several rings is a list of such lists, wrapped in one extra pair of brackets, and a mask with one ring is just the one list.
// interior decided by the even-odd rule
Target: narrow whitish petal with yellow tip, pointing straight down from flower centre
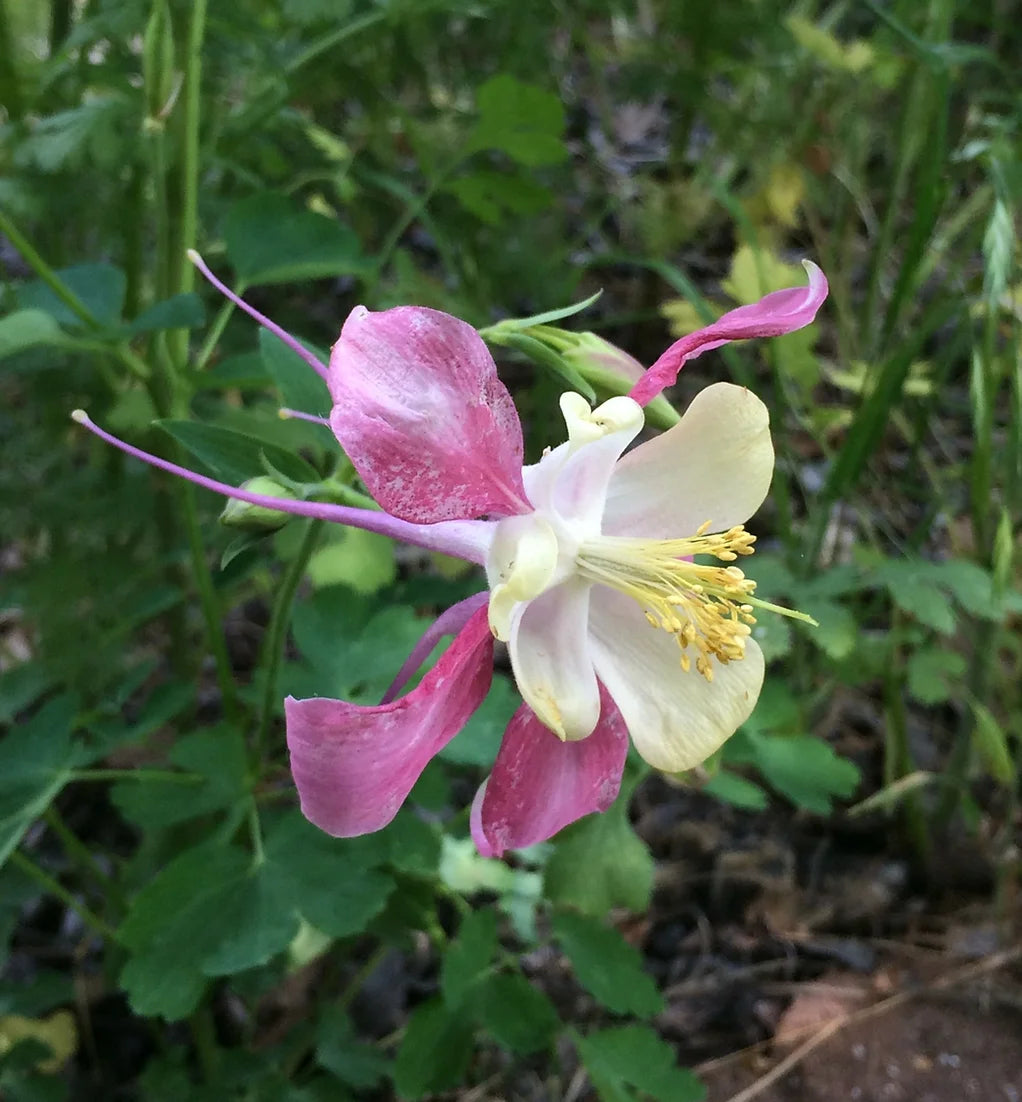
[(587, 634), (591, 588), (571, 579), (519, 605), (507, 645), (523, 700), (566, 739), (584, 738), (600, 720)]

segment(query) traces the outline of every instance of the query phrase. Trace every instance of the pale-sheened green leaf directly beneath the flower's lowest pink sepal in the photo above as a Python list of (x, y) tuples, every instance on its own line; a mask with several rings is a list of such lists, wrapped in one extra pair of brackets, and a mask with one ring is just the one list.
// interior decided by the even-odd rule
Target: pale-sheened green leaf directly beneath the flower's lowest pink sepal
[(649, 906), (653, 858), (632, 830), (627, 806), (620, 796), (603, 814), (587, 815), (558, 835), (544, 874), (551, 903), (598, 916), (612, 907)]

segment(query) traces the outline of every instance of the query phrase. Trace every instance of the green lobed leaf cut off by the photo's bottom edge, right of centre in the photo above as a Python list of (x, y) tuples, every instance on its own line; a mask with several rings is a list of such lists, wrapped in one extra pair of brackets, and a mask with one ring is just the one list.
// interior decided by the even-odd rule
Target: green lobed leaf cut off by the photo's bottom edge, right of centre
[(675, 1062), (674, 1049), (649, 1026), (600, 1029), (579, 1037), (579, 1056), (601, 1099), (634, 1100), (628, 1088), (652, 1094), (657, 1102), (702, 1102), (706, 1088)]

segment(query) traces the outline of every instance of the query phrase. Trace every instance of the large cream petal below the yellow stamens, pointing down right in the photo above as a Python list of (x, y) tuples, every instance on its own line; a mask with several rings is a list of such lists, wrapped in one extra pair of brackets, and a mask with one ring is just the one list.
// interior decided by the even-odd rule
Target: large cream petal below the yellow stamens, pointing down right
[(590, 645), (596, 676), (624, 716), (635, 748), (656, 769), (678, 773), (704, 761), (752, 714), (763, 685), (763, 652), (751, 639), (745, 657), (713, 680), (685, 672), (674, 636), (650, 627), (635, 602), (594, 586)]

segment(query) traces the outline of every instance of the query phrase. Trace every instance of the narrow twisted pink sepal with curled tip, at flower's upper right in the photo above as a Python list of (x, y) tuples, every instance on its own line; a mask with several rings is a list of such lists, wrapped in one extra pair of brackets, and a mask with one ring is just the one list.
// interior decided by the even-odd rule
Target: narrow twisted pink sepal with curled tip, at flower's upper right
[(676, 341), (628, 391), (639, 406), (646, 406), (678, 378), (687, 360), (719, 348), (731, 341), (751, 337), (777, 337), (804, 328), (815, 317), (827, 298), (827, 278), (811, 260), (803, 266), (809, 276), (808, 287), (773, 291), (759, 302), (729, 311), (704, 329)]

